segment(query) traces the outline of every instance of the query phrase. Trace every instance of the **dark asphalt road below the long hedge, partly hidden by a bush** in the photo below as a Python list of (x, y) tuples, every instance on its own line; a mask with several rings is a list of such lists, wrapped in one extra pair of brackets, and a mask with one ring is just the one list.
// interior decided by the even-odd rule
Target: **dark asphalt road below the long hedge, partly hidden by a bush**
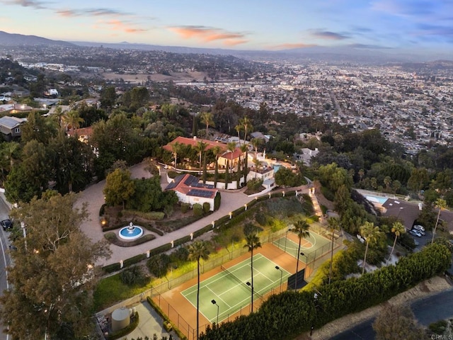
[[(447, 290), (422, 300), (413, 302), (411, 309), (418, 323), (428, 327), (432, 322), (453, 317), (453, 290)], [(372, 327), (374, 319), (362, 322), (347, 331), (333, 336), (331, 340), (372, 340), (376, 333)]]

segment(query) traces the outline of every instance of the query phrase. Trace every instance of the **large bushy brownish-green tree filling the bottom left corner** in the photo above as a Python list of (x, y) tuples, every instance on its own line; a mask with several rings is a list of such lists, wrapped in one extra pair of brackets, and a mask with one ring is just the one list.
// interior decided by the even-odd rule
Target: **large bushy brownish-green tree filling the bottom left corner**
[(82, 339), (93, 334), (93, 287), (108, 259), (106, 242), (93, 244), (79, 229), (87, 218), (86, 204), (74, 209), (76, 196), (51, 195), (11, 211), (24, 223), (26, 238), (13, 244), (14, 266), (8, 268), (11, 289), (1, 297), (1, 319), (13, 339)]

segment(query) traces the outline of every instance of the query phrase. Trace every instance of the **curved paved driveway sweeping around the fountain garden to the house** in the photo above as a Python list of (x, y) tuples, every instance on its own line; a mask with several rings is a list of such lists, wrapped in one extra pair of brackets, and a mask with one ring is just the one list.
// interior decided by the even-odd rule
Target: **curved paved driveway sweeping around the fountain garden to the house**
[[(130, 168), (132, 177), (141, 179), (142, 177), (149, 177), (149, 172), (144, 170), (146, 164), (141, 163), (134, 165)], [(166, 186), (166, 178), (164, 172), (161, 176), (162, 185)], [(99, 223), (99, 210), (103, 205), (104, 195), (103, 195), (103, 188), (105, 186), (105, 180), (99, 183), (94, 184), (86, 188), (85, 191), (81, 192), (79, 195), (79, 199), (76, 202), (76, 208), (80, 208), (82, 203), (88, 203), (88, 213), (89, 213), (89, 220), (81, 225), (81, 230), (93, 241), (98, 242), (104, 239), (104, 235), (101, 229), (101, 225)], [(298, 191), (307, 193), (308, 192), (308, 185), (301, 186), (297, 189)], [(285, 191), (288, 191), (288, 188), (285, 188)], [(240, 208), (244, 204), (253, 200), (253, 198), (249, 198), (246, 196), (243, 191), (245, 188), (236, 191), (224, 191), (221, 190), (222, 193), (222, 203), (220, 205), (219, 210), (213, 212), (211, 215), (204, 217), (200, 220), (197, 220), (191, 225), (187, 225), (181, 229), (178, 229), (174, 232), (164, 234), (164, 236), (156, 237), (152, 241), (146, 242), (144, 244), (139, 244), (137, 246), (130, 246), (130, 247), (121, 247), (115, 246), (115, 244), (110, 244), (110, 250), (112, 251), (112, 256), (110, 259), (105, 260), (101, 263), (96, 263), (101, 266), (106, 266), (110, 263), (117, 263), (120, 260), (129, 259), (132, 256), (138, 254), (144, 254), (150, 249), (154, 249), (157, 246), (161, 246), (162, 244), (170, 243), (175, 239), (179, 239), (180, 237), (184, 237), (189, 235), (191, 232), (195, 232), (206, 225), (209, 225), (212, 221), (218, 220), (220, 217), (228, 215), (230, 211), (236, 210)], [(265, 194), (267, 195), (267, 193)]]

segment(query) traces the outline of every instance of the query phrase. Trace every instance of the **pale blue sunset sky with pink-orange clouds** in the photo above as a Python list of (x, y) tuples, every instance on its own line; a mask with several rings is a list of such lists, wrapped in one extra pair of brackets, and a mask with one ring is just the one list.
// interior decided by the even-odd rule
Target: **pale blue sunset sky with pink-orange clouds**
[(453, 55), (453, 0), (0, 0), (0, 30), (66, 41)]

